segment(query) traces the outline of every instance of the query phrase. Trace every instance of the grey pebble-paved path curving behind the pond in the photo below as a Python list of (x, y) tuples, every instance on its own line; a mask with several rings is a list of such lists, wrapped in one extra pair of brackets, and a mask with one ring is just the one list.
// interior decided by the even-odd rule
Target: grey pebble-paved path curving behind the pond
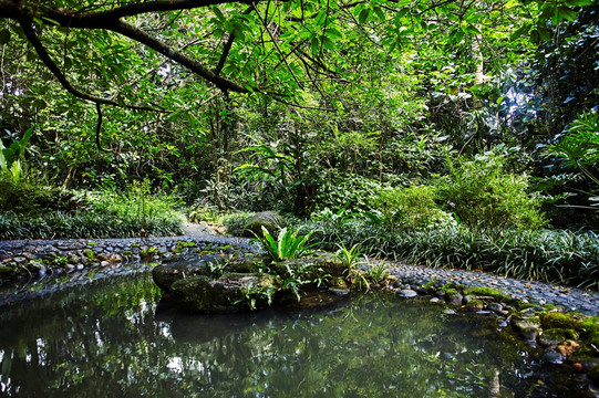
[[(186, 234), (182, 237), (171, 238), (153, 238), (151, 243), (154, 245), (168, 244), (173, 241), (194, 241), (206, 243), (231, 244), (234, 247), (256, 250), (256, 247), (246, 238), (226, 238), (215, 234), (214, 231), (206, 227), (189, 224), (186, 228)], [(64, 240), (64, 241), (0, 241), (0, 253), (8, 253), (11, 248), (22, 245), (44, 245), (52, 243), (54, 245), (68, 245), (73, 241), (82, 240)], [(94, 240), (95, 242), (101, 240)], [(140, 242), (140, 239), (111, 239), (102, 240), (111, 247), (131, 244), (133, 241)], [(381, 261), (373, 260), (371, 265), (379, 264)], [(509, 294), (515, 298), (528, 301), (536, 304), (554, 304), (565, 308), (566, 311), (577, 311), (587, 315), (599, 315), (599, 293), (587, 290), (562, 286), (552, 283), (538, 281), (523, 281), (513, 277), (505, 277), (485, 272), (450, 270), (450, 269), (433, 269), (420, 265), (410, 265), (396, 262), (385, 262), (389, 265), (389, 273), (396, 276), (404, 284), (420, 286), (430, 281), (438, 285), (448, 282), (464, 284), (465, 286), (489, 286), (500, 290), (505, 294)], [(368, 265), (366, 265), (368, 266)], [(130, 268), (131, 269), (131, 268)], [(106, 272), (107, 275), (118, 273), (116, 270)], [(81, 283), (89, 282), (89, 279), (80, 277)], [(78, 283), (78, 277), (71, 279), (71, 284)], [(43, 292), (42, 292), (43, 293)], [(29, 294), (31, 296), (31, 294)], [(18, 301), (20, 297), (13, 295), (12, 300), (0, 297), (0, 306), (9, 302)]]

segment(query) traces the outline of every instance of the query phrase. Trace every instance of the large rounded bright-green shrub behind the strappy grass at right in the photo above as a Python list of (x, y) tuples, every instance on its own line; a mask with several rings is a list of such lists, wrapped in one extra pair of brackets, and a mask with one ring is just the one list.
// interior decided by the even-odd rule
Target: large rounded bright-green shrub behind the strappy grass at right
[(450, 163), (450, 175), (438, 180), (440, 199), (471, 228), (543, 227), (546, 221), (539, 212), (540, 202), (527, 193), (527, 177), (507, 172), (504, 165), (497, 149), (472, 160)]

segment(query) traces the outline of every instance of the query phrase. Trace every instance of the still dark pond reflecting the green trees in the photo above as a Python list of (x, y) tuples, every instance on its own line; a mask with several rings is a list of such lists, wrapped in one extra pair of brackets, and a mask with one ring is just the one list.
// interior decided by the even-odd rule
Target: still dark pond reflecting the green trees
[[(363, 294), (182, 315), (147, 272), (0, 308), (0, 391), (21, 397), (580, 397), (488, 316)], [(562, 377), (564, 376), (564, 377)], [(564, 380), (562, 380), (564, 379)], [(551, 384), (551, 380), (561, 380)]]

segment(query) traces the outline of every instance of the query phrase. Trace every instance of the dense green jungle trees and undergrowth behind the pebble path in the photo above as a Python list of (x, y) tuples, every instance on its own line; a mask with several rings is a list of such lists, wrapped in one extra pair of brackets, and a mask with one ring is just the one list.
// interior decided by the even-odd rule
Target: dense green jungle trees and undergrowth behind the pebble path
[[(592, 0), (0, 0), (0, 237), (230, 231), (597, 287)], [(178, 213), (177, 213), (178, 211)]]

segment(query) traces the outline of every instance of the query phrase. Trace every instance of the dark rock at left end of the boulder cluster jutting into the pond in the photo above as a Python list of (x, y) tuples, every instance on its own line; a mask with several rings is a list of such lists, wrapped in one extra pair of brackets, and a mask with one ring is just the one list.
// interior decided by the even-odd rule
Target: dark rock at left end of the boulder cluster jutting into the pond
[(165, 261), (163, 265), (155, 266), (152, 270), (152, 277), (158, 287), (168, 291), (171, 285), (178, 280), (209, 275), (210, 259), (211, 256), (202, 256), (199, 254), (174, 255), (168, 261)]

